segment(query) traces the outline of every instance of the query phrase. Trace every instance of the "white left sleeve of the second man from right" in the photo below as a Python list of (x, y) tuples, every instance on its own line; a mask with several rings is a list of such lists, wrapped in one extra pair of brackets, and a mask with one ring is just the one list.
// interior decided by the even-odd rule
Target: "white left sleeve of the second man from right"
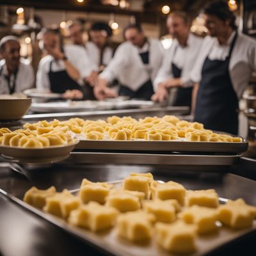
[(157, 90), (157, 85), (159, 83), (163, 83), (169, 78), (173, 77), (172, 70), (171, 70), (171, 61), (170, 54), (166, 51), (164, 54), (162, 65), (157, 72), (156, 78), (154, 79), (154, 90)]

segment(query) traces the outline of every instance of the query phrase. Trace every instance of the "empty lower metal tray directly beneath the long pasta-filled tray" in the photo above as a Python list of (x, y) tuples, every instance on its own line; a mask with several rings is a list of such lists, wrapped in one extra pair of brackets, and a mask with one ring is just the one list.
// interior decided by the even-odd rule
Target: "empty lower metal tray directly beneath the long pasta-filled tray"
[(119, 152), (76, 152), (70, 153), (67, 161), (72, 163), (100, 164), (168, 164), (231, 166), (239, 163), (239, 155), (193, 155), (193, 154), (141, 154)]

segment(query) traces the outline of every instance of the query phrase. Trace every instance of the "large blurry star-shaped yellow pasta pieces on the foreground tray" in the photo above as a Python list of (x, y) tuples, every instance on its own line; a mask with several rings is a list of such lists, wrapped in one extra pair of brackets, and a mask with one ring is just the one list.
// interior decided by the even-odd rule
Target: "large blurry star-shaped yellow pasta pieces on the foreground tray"
[(252, 227), (256, 216), (256, 207), (241, 198), (220, 205), (214, 189), (187, 190), (172, 180), (156, 181), (151, 173), (131, 173), (119, 187), (83, 179), (77, 194), (33, 187), (24, 201), (92, 232), (115, 227), (116, 237), (132, 243), (156, 239), (173, 253), (195, 252), (198, 237), (214, 239), (222, 226), (230, 232)]

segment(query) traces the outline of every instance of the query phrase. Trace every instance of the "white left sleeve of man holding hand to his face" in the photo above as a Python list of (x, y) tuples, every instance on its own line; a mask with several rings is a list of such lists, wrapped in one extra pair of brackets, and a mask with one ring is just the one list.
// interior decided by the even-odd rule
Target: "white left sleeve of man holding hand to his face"
[(49, 70), (47, 70), (49, 62), (45, 62), (43, 59), (39, 62), (38, 70), (36, 73), (36, 88), (38, 90), (51, 90), (51, 84), (49, 80)]

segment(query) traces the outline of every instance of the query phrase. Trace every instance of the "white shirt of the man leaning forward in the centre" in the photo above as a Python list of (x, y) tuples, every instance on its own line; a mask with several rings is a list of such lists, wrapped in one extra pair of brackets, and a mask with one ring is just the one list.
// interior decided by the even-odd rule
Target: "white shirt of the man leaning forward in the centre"
[[(148, 65), (144, 65), (140, 57), (140, 53), (145, 51), (149, 51)], [(116, 78), (120, 84), (136, 92), (148, 79), (154, 81), (162, 60), (163, 47), (159, 40), (148, 39), (148, 44), (142, 49), (124, 42), (118, 46), (114, 58), (99, 76), (109, 83)]]

